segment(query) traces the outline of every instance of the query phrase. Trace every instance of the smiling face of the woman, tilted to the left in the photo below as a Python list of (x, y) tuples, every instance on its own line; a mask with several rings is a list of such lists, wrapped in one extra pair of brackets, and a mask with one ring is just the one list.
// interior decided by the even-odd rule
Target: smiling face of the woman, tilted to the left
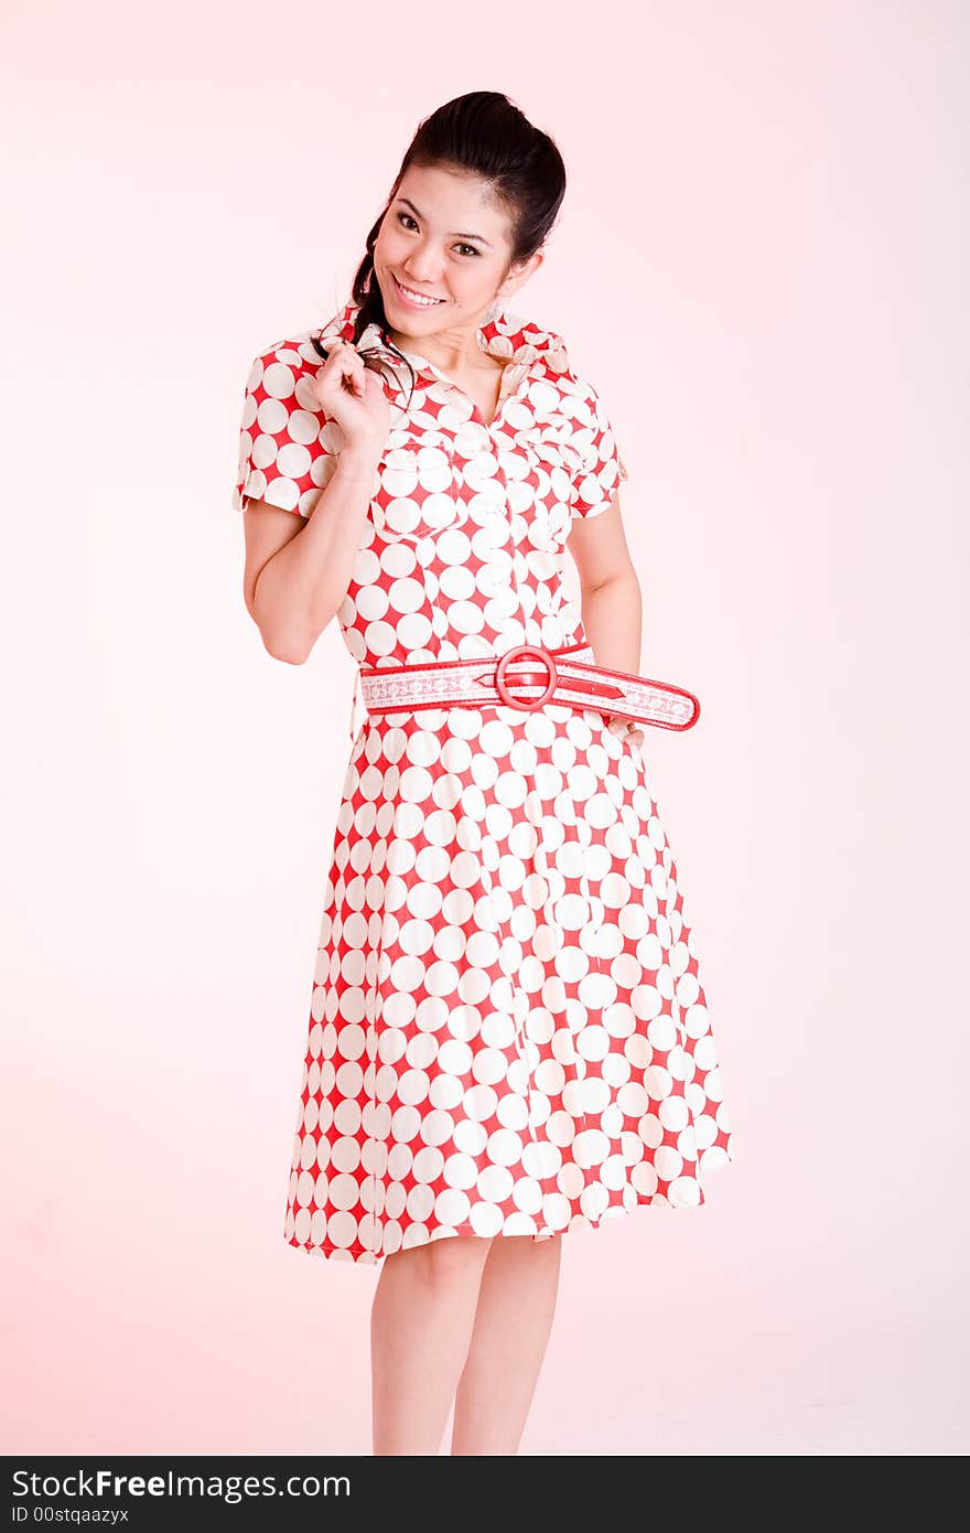
[[(541, 262), (509, 274), (509, 221), (486, 182), (441, 167), (411, 166), (380, 225), (374, 274), (394, 331), (426, 337), (480, 325)], [(418, 305), (398, 284), (435, 299)]]

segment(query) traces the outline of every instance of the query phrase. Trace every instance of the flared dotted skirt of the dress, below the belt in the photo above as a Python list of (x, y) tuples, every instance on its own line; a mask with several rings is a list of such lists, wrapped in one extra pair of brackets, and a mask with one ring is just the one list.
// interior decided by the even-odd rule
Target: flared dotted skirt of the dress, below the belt
[(374, 1263), (449, 1236), (544, 1240), (700, 1205), (728, 1159), (628, 728), (565, 705), (368, 719), (326, 881), (290, 1245)]

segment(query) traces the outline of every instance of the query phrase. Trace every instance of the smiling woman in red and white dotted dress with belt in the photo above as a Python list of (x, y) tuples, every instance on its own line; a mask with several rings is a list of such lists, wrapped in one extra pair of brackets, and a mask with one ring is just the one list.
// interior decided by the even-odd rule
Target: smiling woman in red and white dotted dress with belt
[(449, 101), (352, 300), (262, 353), (247, 386), (247, 607), (291, 664), (336, 616), (366, 707), (285, 1234), (383, 1260), (375, 1453), (437, 1453), (452, 1401), (452, 1453), (515, 1453), (562, 1233), (696, 1206), (702, 1170), (731, 1159), (631, 722), (685, 728), (696, 699), (671, 688), (645, 711), (610, 422), (562, 339), (507, 313), (564, 190), (555, 144), (504, 95)]

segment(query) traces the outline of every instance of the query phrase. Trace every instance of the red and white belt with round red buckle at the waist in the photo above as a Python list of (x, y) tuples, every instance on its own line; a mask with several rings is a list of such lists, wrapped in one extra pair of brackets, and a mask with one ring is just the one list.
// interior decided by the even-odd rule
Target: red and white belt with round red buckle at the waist
[[(700, 717), (700, 704), (693, 691), (630, 671), (608, 670), (581, 658), (592, 655), (588, 644), (567, 644), (559, 650), (516, 644), (495, 659), (360, 667), (357, 679), (368, 714), (489, 704), (535, 713), (549, 702), (595, 708), (662, 730), (690, 730)], [(357, 688), (351, 704), (351, 737), (356, 701)]]

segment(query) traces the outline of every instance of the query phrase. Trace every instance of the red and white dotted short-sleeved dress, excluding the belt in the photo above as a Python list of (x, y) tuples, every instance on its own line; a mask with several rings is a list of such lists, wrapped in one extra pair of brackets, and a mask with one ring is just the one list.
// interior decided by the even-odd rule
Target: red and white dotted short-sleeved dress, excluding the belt
[[(311, 334), (251, 368), (233, 504), (310, 515), (340, 428)], [(359, 350), (380, 342), (375, 325)], [(424, 357), (388, 383), (340, 630), (359, 665), (585, 642), (573, 517), (625, 478), (559, 336), (493, 308), (490, 425)], [(590, 653), (588, 659), (595, 659)], [(647, 728), (650, 737), (650, 728)], [(676, 863), (624, 721), (546, 704), (365, 717), (319, 934), (285, 1239), (372, 1263), (449, 1236), (599, 1225), (703, 1202), (731, 1125)]]

